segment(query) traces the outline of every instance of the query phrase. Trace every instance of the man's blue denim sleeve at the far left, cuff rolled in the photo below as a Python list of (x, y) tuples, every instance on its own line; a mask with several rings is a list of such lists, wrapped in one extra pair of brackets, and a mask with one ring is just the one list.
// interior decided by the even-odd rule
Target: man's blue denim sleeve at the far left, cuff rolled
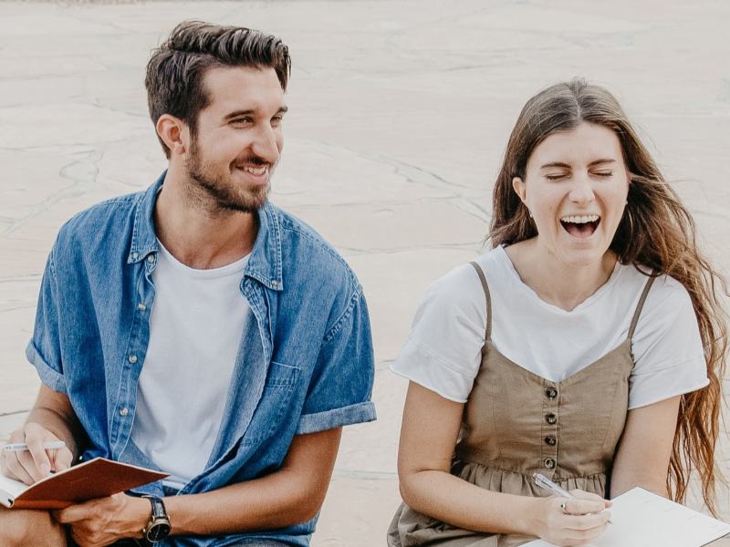
[(66, 393), (66, 381), (61, 363), (57, 297), (57, 279), (51, 251), (40, 285), (36, 325), (33, 337), (26, 347), (26, 357), (36, 367), (38, 377), (47, 387), (59, 393)]

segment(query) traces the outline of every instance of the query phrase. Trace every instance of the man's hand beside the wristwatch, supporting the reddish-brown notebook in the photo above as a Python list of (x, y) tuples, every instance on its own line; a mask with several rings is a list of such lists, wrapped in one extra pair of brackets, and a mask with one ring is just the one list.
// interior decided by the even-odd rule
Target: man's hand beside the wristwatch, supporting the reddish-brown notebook
[(54, 511), (57, 521), (68, 524), (79, 547), (102, 547), (122, 538), (139, 539), (150, 515), (150, 501), (123, 493)]

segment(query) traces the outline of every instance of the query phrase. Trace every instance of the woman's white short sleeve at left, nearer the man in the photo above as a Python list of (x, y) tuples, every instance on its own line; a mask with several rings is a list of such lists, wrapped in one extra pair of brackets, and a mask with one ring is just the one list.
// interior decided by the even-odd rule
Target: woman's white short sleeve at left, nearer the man
[(428, 288), (391, 370), (465, 403), (479, 372), (485, 324), (484, 290), (474, 268), (464, 264)]

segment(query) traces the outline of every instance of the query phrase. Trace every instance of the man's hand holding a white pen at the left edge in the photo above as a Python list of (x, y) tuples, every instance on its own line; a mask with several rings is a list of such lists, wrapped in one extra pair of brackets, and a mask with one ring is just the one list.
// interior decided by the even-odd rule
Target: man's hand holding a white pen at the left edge
[(29, 422), (23, 428), (16, 429), (10, 435), (10, 442), (25, 442), (28, 449), (20, 452), (0, 450), (0, 471), (10, 479), (33, 484), (45, 479), (52, 471), (68, 470), (73, 459), (71, 450), (44, 449), (43, 443), (51, 440), (62, 439), (36, 423)]

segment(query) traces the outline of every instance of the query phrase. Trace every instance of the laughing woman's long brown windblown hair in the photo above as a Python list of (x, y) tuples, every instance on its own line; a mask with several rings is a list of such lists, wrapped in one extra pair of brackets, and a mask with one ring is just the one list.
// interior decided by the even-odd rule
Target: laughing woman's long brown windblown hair
[(681, 397), (667, 489), (673, 500), (684, 501), (690, 472), (696, 470), (702, 480), (704, 502), (716, 515), (715, 485), (725, 483), (715, 466), (714, 450), (720, 432), (727, 350), (727, 321), (720, 298), (727, 294), (727, 285), (700, 253), (692, 215), (662, 177), (619, 102), (606, 89), (574, 79), (527, 101), (510, 135), (495, 183), (489, 239), (494, 246), (509, 245), (537, 235), (512, 180), (525, 179), (527, 160), (547, 136), (575, 129), (583, 122), (616, 133), (631, 176), (628, 203), (610, 250), (619, 256), (620, 263), (634, 264), (643, 274), (671, 275), (692, 298), (710, 384)]

